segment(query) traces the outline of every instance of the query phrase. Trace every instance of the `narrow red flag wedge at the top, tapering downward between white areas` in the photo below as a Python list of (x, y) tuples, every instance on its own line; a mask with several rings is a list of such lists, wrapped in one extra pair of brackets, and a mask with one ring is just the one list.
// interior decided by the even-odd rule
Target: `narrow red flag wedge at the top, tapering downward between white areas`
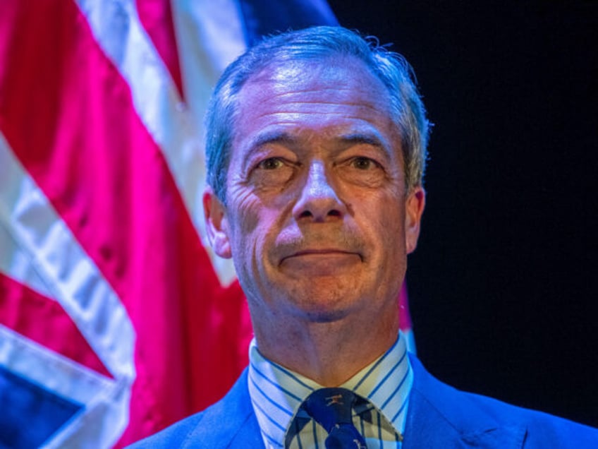
[(170, 0), (137, 0), (137, 11), (143, 28), (170, 72), (178, 95), (184, 98)]

